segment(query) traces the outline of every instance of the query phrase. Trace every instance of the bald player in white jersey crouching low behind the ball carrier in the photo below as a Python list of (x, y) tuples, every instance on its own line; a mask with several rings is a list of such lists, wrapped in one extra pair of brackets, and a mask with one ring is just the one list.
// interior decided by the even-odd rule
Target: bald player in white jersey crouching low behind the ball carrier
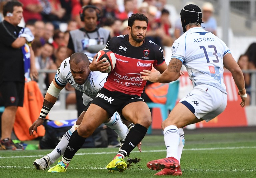
[[(55, 79), (49, 86), (44, 98), (43, 107), (39, 118), (29, 127), (30, 135), (36, 131), (37, 127), (42, 125), (45, 117), (49, 113), (52, 106), (55, 104), (58, 95), (67, 83), (71, 84), (77, 90), (83, 92), (83, 103), (88, 106), (88, 103), (97, 95), (97, 92), (104, 86), (107, 79), (107, 74), (101, 72), (91, 72), (89, 64), (92, 58), (89, 58), (83, 53), (74, 53), (70, 58), (65, 59), (55, 75)], [(100, 68), (101, 66), (99, 66)], [(87, 107), (86, 107), (87, 109)], [(85, 110), (86, 110), (85, 109)], [(49, 165), (53, 164), (63, 153), (67, 147), (71, 134), (77, 129), (78, 125), (85, 114), (81, 113), (78, 120), (62, 137), (56, 148), (46, 156), (36, 159), (33, 163), (38, 170), (45, 170)], [(120, 119), (120, 115), (116, 112), (105, 123), (108, 127), (114, 129), (121, 141), (125, 140), (128, 133), (128, 128)], [(139, 147), (140, 145), (138, 145)], [(57, 151), (58, 150), (58, 151)], [(139, 148), (140, 150), (140, 148)]]

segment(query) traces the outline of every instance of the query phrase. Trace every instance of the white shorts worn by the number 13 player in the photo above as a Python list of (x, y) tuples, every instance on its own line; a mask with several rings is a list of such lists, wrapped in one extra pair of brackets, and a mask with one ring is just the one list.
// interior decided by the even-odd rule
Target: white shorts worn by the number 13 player
[(227, 94), (209, 85), (198, 85), (179, 102), (187, 106), (198, 119), (208, 122), (225, 110)]

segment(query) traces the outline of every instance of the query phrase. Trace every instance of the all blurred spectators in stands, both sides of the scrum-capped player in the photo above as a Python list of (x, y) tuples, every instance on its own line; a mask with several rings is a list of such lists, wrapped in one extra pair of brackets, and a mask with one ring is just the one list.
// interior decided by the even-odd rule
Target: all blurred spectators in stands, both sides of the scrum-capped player
[[(10, 0), (0, 1), (0, 21), (4, 20), (3, 6)], [(149, 19), (146, 38), (161, 46), (171, 47), (174, 40), (183, 34), (181, 19), (172, 19), (172, 12), (167, 0), (18, 0), (23, 5), (23, 21), (34, 35), (31, 47), (34, 53), (35, 67), (37, 70), (57, 71), (60, 64), (74, 52), (83, 52), (76, 49), (72, 34), (75, 30), (86, 33), (88, 38), (99, 28), (109, 31), (109, 36), (128, 34), (128, 18), (133, 13), (142, 13)], [(97, 28), (90, 30), (91, 23), (85, 20), (84, 7), (93, 7), (97, 12)], [(213, 17), (214, 7), (211, 3), (202, 5), (202, 27), (217, 36), (217, 24)], [(172, 20), (175, 27), (172, 27)], [(171, 29), (174, 29), (172, 32)], [(71, 33), (70, 33), (71, 32)], [(88, 35), (88, 34), (89, 35)], [(101, 35), (101, 34), (100, 34)], [(86, 36), (84, 36), (86, 37)], [(108, 36), (106, 36), (108, 39)], [(106, 41), (105, 39), (105, 41)], [(82, 41), (83, 39), (81, 39)], [(99, 40), (101, 38), (99, 37)], [(104, 41), (101, 45), (106, 45)], [(72, 43), (71, 43), (72, 42)], [(81, 43), (81, 42), (80, 42)], [(88, 42), (89, 43), (89, 42)], [(90, 44), (90, 43), (89, 43)], [(99, 41), (98, 41), (99, 44)], [(74, 49), (70, 53), (70, 47)], [(242, 70), (256, 68), (256, 43), (249, 46), (247, 51), (238, 59)], [(165, 51), (164, 51), (165, 53)], [(93, 56), (89, 56), (93, 57)], [(43, 74), (43, 89), (48, 89), (55, 77), (54, 73)], [(244, 73), (246, 89), (248, 89), (248, 102), (250, 104), (251, 75)], [(147, 86), (148, 87), (148, 86)], [(74, 90), (67, 85), (66, 90)], [(68, 92), (66, 104), (77, 104), (77, 92)], [(147, 97), (147, 96), (145, 96)], [(82, 99), (81, 96), (79, 96)], [(152, 99), (150, 98), (150, 101)], [(82, 104), (83, 106), (83, 104)], [(79, 114), (78, 114), (79, 115)]]

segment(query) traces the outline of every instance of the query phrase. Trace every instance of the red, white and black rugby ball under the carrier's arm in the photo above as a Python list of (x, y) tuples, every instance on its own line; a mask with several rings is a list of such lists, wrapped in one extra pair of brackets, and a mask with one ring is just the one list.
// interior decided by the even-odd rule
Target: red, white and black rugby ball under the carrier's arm
[[(110, 64), (110, 66), (108, 67), (108, 70), (106, 70), (102, 73), (110, 73), (111, 71), (113, 71), (113, 69), (116, 66), (116, 56), (115, 56), (115, 54), (112, 51), (107, 50), (107, 49), (100, 50), (97, 53), (96, 61), (98, 62), (102, 59), (107, 59), (107, 61)], [(103, 62), (103, 63), (105, 63), (105, 62)]]

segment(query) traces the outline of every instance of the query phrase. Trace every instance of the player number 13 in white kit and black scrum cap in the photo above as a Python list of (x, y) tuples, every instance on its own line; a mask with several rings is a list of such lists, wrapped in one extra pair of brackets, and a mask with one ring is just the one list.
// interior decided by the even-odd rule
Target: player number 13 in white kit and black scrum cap
[(162, 123), (167, 156), (147, 163), (150, 169), (162, 169), (155, 175), (182, 175), (180, 158), (185, 143), (183, 127), (203, 120), (208, 122), (226, 108), (223, 67), (232, 74), (242, 99), (242, 107), (245, 106), (247, 96), (243, 73), (228, 47), (201, 27), (201, 9), (189, 4), (181, 10), (180, 15), (185, 33), (173, 43), (168, 69), (162, 74), (158, 71), (141, 72), (145, 75), (141, 77), (143, 80), (169, 83), (180, 77), (183, 64), (193, 83), (193, 89), (179, 101)]

